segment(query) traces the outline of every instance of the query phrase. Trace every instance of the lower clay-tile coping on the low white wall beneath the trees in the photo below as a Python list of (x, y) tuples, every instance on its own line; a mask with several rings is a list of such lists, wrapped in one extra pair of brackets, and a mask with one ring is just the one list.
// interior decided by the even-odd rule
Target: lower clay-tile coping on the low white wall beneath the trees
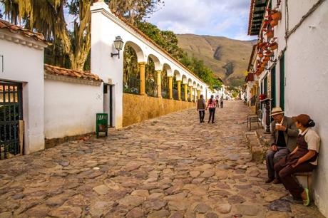
[(60, 68), (58, 66), (51, 66), (48, 64), (44, 64), (44, 73), (56, 75), (56, 76), (71, 76), (74, 78), (79, 78), (83, 80), (89, 80), (89, 81), (103, 81), (101, 78), (99, 78), (98, 75), (85, 72), (85, 71), (74, 71), (71, 69), (66, 68)]

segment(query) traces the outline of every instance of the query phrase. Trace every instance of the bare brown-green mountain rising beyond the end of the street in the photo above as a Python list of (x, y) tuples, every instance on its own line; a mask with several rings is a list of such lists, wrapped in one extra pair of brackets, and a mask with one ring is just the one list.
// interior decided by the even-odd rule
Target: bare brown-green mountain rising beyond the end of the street
[(242, 85), (245, 80), (252, 45), (255, 41), (240, 41), (221, 36), (177, 34), (178, 45), (188, 56), (204, 61), (225, 84)]

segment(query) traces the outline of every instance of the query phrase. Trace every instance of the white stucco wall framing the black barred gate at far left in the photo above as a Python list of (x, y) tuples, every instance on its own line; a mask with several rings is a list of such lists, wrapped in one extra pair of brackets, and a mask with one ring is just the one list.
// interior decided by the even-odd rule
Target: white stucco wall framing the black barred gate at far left
[[(4, 56), (4, 72), (0, 80), (23, 83), (24, 152), (44, 149), (43, 133), (43, 46), (45, 44), (20, 34), (0, 30), (0, 55)], [(14, 41), (6, 40), (11, 38)], [(13, 40), (10, 39), (10, 40)], [(22, 43), (34, 43), (31, 46)], [(38, 47), (39, 48), (34, 48)]]

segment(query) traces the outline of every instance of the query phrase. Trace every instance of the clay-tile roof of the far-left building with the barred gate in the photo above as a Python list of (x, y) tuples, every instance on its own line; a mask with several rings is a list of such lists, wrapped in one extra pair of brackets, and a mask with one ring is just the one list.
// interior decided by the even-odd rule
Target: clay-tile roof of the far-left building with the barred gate
[(21, 26), (16, 26), (14, 24), (9, 23), (8, 21), (4, 21), (3, 19), (0, 19), (0, 29), (8, 29), (11, 33), (19, 33), (25, 37), (33, 38), (35, 41), (42, 41), (43, 43), (46, 43), (49, 45), (43, 35), (41, 33), (36, 33), (34, 31), (31, 31), (27, 28), (23, 28)]

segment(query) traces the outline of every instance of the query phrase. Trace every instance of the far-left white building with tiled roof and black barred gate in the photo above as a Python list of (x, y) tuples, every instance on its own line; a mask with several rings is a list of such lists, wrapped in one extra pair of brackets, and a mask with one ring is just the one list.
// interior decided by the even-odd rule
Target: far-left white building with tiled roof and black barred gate
[[(39, 33), (0, 20), (1, 157), (44, 148), (43, 51)], [(24, 120), (24, 124), (19, 124)], [(21, 126), (21, 128), (19, 128)], [(24, 130), (24, 143), (19, 133)], [(1, 159), (0, 157), (0, 159)]]

